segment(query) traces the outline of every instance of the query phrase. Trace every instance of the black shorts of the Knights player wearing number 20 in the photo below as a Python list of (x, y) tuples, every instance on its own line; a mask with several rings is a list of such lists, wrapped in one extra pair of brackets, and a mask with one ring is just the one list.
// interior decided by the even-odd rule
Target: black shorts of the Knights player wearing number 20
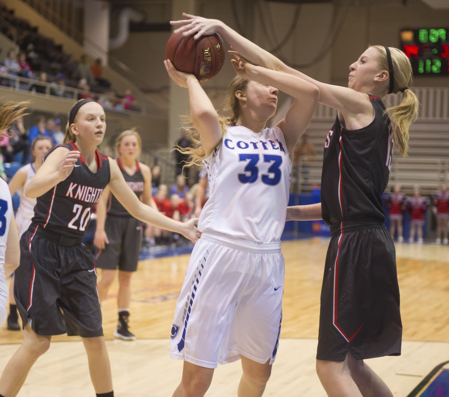
[(14, 297), (23, 326), (39, 335), (103, 335), (97, 272), (80, 240), (34, 223), (22, 234)]

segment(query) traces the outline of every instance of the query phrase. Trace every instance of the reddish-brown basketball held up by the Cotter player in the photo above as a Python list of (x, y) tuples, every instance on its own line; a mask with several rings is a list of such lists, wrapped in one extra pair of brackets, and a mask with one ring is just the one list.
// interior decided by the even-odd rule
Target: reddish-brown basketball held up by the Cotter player
[(165, 59), (171, 60), (180, 72), (192, 73), (199, 82), (213, 78), (225, 63), (223, 39), (218, 34), (184, 37), (182, 33), (173, 33), (165, 47)]

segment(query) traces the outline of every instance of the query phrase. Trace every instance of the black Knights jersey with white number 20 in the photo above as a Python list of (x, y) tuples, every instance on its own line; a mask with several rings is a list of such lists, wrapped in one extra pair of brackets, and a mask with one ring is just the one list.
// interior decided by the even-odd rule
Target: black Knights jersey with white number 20
[[(57, 147), (78, 150), (75, 143), (56, 145), (43, 158), (43, 162)], [(95, 150), (97, 172), (93, 173), (82, 157), (75, 163), (72, 173), (53, 189), (37, 198), (33, 222), (44, 229), (64, 237), (83, 237), (89, 224), (92, 207), (110, 181), (108, 157)]]

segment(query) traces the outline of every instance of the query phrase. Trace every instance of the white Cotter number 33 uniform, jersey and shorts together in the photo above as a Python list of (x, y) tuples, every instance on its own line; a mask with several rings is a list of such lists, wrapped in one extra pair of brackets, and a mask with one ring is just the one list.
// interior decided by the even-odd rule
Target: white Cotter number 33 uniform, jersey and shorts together
[(278, 127), (228, 127), (207, 166), (210, 197), (172, 326), (172, 358), (215, 368), (274, 361), (282, 321), (281, 234), (291, 160)]

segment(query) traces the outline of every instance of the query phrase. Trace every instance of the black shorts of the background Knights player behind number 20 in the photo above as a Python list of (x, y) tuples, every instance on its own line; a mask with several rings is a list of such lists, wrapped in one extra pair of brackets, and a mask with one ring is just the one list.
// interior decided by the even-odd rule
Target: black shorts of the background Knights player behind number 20
[(107, 216), (105, 231), (109, 244), (95, 255), (97, 268), (135, 272), (142, 242), (142, 223), (131, 216)]

